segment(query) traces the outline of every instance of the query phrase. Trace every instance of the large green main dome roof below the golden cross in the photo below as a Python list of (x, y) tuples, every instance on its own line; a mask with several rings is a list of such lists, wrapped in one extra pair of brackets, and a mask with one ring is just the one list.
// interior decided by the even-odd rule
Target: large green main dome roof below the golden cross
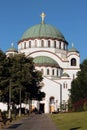
[(45, 23), (30, 27), (24, 32), (21, 40), (29, 38), (57, 38), (65, 41), (63, 34), (59, 30), (54, 26)]

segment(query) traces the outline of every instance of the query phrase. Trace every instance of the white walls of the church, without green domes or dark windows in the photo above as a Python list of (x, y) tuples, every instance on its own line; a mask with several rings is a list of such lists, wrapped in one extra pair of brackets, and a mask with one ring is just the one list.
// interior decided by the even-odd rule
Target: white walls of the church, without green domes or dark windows
[[(44, 39), (43, 39), (44, 40)], [(50, 39), (49, 39), (50, 40)], [(37, 42), (37, 46), (34, 45), (33, 42)], [(37, 56), (47, 56), (54, 59), (59, 66), (63, 69), (63, 73), (67, 73), (69, 77), (58, 78), (52, 77), (52, 69), (54, 69), (54, 76), (56, 76), (56, 68), (54, 67), (36, 67), (38, 70), (43, 69), (44, 72), (44, 87), (41, 91), (46, 93), (46, 97), (41, 103), (44, 103), (45, 113), (50, 112), (50, 97), (54, 97), (54, 107), (57, 110), (57, 107), (60, 107), (60, 102), (67, 103), (69, 98), (69, 89), (71, 88), (71, 81), (76, 78), (76, 73), (79, 70), (79, 54), (78, 53), (67, 53), (64, 50), (64, 43), (61, 42), (61, 49), (59, 49), (59, 41), (56, 41), (56, 48), (54, 48), (54, 41), (50, 40), (50, 47), (48, 47), (48, 40), (44, 40), (44, 46), (41, 47), (41, 40), (32, 41), (31, 48), (27, 48), (21, 50), (21, 52), (25, 52), (26, 56), (37, 57)], [(65, 48), (67, 46), (65, 44)], [(77, 61), (76, 66), (71, 66), (71, 59), (75, 58)], [(47, 69), (49, 69), (49, 75), (47, 75)], [(61, 76), (61, 75), (60, 75)], [(60, 94), (60, 84), (62, 88), (62, 94)], [(58, 104), (56, 104), (58, 101)], [(56, 107), (57, 106), (57, 107)]]

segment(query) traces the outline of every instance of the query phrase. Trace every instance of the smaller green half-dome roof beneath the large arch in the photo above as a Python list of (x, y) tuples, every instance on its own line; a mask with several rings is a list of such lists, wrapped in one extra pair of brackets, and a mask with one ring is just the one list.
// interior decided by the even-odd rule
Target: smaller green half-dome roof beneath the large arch
[(34, 58), (35, 65), (38, 66), (51, 66), (51, 67), (59, 67), (58, 63), (47, 56), (37, 56)]

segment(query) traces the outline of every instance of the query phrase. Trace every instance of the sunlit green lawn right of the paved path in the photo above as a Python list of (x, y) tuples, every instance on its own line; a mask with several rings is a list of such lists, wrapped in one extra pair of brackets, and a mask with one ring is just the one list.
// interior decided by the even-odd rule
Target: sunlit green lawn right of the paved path
[(87, 111), (52, 114), (51, 118), (59, 130), (87, 130)]

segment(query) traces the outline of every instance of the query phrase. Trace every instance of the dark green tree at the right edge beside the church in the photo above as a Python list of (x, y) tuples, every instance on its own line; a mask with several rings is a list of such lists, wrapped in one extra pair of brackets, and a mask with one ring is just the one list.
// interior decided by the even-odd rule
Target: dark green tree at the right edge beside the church
[(71, 84), (70, 99), (72, 104), (87, 98), (87, 60), (83, 61), (80, 69), (77, 78)]

